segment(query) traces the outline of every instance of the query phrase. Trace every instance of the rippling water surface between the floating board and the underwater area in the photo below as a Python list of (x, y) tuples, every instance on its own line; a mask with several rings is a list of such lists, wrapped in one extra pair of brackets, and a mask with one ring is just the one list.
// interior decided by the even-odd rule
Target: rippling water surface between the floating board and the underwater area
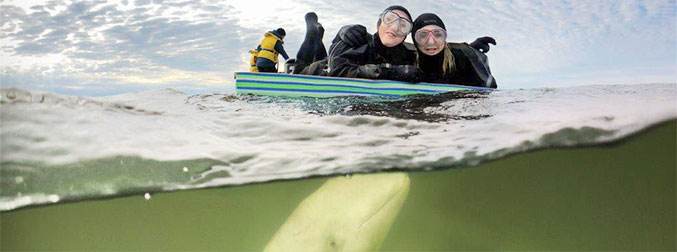
[(657, 84), (289, 99), (2, 89), (0, 210), (318, 175), (464, 168), (537, 149), (605, 144), (677, 118), (676, 90)]

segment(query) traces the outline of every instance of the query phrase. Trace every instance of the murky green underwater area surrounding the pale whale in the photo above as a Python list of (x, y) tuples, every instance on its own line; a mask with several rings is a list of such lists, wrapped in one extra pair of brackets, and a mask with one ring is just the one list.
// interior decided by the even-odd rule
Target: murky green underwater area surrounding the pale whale
[[(409, 173), (381, 250), (676, 250), (676, 143), (670, 121), (611, 145)], [(0, 250), (260, 251), (326, 180), (2, 212)]]

